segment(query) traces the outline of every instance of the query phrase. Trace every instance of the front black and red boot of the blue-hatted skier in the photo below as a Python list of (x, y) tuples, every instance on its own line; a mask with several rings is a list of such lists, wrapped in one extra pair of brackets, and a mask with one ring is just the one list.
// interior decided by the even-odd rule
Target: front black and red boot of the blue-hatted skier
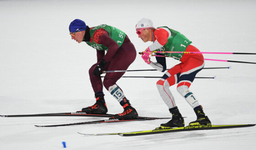
[(80, 112), (85, 112), (86, 114), (100, 114), (104, 115), (107, 113), (107, 105), (103, 96), (96, 98), (96, 103), (92, 106), (83, 108)]

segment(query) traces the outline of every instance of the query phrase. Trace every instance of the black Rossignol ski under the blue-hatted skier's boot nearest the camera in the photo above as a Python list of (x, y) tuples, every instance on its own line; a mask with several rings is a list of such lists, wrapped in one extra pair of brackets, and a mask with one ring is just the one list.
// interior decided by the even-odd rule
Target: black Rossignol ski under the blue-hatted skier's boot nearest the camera
[(110, 123), (110, 122), (124, 122), (124, 121), (142, 121), (142, 120), (156, 120), (156, 119), (171, 119), (171, 118), (158, 118), (158, 117), (138, 117), (136, 119), (131, 120), (119, 120), (109, 118), (107, 120), (96, 120), (96, 121), (86, 121), (86, 122), (78, 122), (71, 124), (60, 124), (60, 125), (35, 125), (37, 127), (55, 127), (55, 126), (69, 126), (69, 125), (85, 125), (85, 124), (98, 124), (98, 123)]

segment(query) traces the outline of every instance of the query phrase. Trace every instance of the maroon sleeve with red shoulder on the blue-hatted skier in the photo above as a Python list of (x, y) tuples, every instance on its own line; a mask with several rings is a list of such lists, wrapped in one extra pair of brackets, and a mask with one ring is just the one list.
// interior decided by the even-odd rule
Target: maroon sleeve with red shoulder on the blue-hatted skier
[(108, 48), (106, 55), (102, 59), (110, 62), (119, 47), (117, 43), (108, 35), (108, 32), (104, 29), (96, 30), (93, 34), (93, 40), (97, 44), (104, 45)]

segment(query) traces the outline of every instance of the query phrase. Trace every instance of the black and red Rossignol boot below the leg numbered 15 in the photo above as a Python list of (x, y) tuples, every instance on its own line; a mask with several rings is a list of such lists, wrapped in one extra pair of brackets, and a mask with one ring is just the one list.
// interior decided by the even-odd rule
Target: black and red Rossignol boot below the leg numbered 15
[(131, 106), (131, 104), (129, 103), (129, 100), (126, 100), (125, 98), (125, 101), (126, 103), (123, 105), (123, 109), (124, 109), (123, 113), (116, 114), (112, 118), (119, 119), (119, 120), (129, 120), (129, 119), (138, 118), (138, 113), (135, 110), (135, 108)]

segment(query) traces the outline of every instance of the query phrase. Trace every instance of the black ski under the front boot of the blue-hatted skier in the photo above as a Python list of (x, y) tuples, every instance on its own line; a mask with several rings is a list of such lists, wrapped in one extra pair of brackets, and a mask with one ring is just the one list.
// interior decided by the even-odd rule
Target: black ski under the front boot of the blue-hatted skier
[(67, 112), (67, 113), (48, 113), (48, 114), (30, 114), (30, 115), (0, 115), (1, 117), (44, 117), (44, 116), (85, 116), (85, 117), (112, 117), (112, 114), (96, 115), (85, 114), (84, 112)]

